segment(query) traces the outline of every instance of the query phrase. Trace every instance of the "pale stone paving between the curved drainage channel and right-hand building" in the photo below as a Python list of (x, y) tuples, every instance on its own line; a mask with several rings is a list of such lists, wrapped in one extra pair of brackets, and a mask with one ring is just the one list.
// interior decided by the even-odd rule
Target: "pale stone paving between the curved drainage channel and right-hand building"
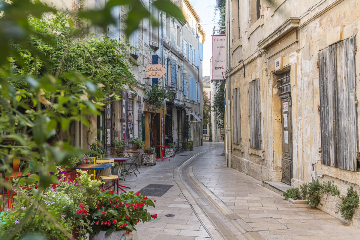
[(360, 229), (309, 205), (293, 205), (261, 181), (226, 168), (221, 154), (210, 151), (198, 159), (195, 177), (266, 240), (360, 239)]

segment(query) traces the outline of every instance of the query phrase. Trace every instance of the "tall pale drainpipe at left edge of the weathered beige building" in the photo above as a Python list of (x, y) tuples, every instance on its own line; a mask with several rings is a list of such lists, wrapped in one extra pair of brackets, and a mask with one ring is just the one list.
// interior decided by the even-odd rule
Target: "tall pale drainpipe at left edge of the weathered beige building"
[(228, 81), (226, 82), (228, 100), (226, 101), (226, 125), (227, 125), (227, 147), (228, 147), (228, 167), (231, 168), (231, 102), (230, 102), (230, 15), (229, 0), (226, 0), (226, 44), (228, 47)]

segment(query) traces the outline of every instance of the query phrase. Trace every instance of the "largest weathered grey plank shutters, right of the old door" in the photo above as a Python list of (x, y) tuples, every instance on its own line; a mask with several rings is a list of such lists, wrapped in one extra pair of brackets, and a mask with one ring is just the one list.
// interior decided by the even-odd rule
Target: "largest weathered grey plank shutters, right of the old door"
[(355, 36), (319, 51), (321, 163), (357, 171)]

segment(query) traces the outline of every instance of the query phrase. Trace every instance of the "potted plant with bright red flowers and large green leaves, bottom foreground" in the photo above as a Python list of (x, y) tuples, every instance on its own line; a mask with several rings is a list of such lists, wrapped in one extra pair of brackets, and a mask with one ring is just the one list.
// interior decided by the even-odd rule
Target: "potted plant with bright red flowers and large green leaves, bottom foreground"
[[(95, 208), (90, 208), (87, 218), (91, 224), (90, 240), (131, 239), (137, 240), (135, 226), (141, 222), (157, 218), (145, 207), (155, 207), (148, 197), (129, 191), (114, 193), (113, 190), (103, 191), (97, 198)], [(133, 232), (135, 231), (135, 232)]]

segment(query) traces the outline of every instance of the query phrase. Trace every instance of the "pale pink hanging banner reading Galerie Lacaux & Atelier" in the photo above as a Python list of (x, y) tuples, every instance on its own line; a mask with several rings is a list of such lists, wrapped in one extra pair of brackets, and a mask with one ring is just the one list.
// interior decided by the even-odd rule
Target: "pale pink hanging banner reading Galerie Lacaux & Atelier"
[(226, 71), (226, 35), (212, 35), (212, 80), (224, 80)]

